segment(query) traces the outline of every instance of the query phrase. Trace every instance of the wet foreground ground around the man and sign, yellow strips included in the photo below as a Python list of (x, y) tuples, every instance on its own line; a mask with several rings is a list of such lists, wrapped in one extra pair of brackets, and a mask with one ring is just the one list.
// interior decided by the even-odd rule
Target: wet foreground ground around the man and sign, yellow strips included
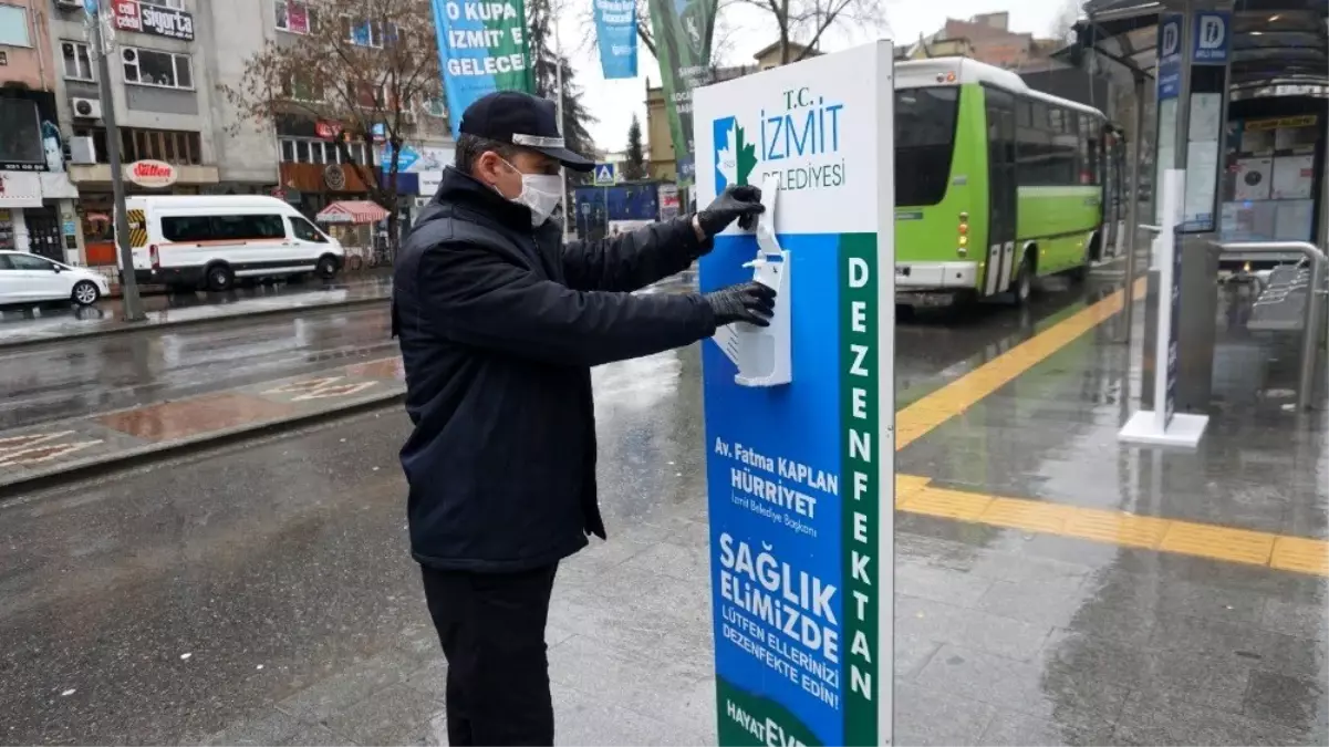
[[(897, 332), (897, 743), (1329, 743), (1320, 423), (1120, 448), (1120, 298), (1073, 296)], [(611, 540), (560, 572), (560, 744), (714, 743), (699, 374), (594, 374)], [(0, 504), (0, 742), (445, 744), (405, 433), (385, 411)]]

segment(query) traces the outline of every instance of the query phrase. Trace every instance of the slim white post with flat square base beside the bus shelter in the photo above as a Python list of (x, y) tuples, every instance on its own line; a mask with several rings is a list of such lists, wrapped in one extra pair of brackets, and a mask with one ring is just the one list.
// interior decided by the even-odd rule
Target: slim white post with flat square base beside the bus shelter
[(1159, 271), (1159, 314), (1154, 354), (1154, 409), (1142, 409), (1126, 421), (1118, 439), (1159, 447), (1196, 448), (1209, 419), (1205, 415), (1176, 412), (1177, 316), (1181, 306), (1181, 203), (1185, 171), (1163, 173), (1162, 225), (1154, 239), (1154, 262)]

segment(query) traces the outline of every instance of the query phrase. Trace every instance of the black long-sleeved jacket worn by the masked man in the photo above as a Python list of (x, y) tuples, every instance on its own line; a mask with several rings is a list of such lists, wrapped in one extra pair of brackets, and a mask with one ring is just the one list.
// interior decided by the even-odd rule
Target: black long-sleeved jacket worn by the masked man
[(703, 251), (687, 219), (563, 245), (554, 221), (532, 229), (526, 207), (444, 173), (392, 291), (417, 561), (517, 572), (605, 537), (590, 367), (715, 334), (696, 295), (629, 292)]

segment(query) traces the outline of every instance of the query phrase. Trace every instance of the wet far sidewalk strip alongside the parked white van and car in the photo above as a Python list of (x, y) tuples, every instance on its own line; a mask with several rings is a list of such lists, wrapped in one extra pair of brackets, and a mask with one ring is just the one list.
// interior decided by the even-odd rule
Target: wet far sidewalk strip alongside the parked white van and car
[(276, 283), (214, 292), (159, 292), (144, 296), (148, 319), (122, 320), (124, 302), (105, 299), (96, 306), (77, 307), (49, 303), (0, 310), (0, 350), (47, 342), (86, 342), (90, 336), (137, 332), (158, 327), (199, 324), (235, 318), (303, 311), (338, 306), (367, 304), (392, 295), (392, 279), (385, 274), (304, 283)]

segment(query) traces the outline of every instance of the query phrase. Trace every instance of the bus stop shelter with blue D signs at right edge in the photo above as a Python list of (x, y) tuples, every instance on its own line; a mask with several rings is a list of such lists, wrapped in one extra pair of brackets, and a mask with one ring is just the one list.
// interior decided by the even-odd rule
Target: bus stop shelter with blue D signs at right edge
[[(1162, 174), (1185, 170), (1185, 217), (1176, 239), (1176, 287), (1184, 299), (1177, 409), (1203, 412), (1221, 399), (1215, 381), (1221, 388), (1223, 375), (1215, 371), (1229, 362), (1216, 368), (1215, 359), (1232, 350), (1216, 340), (1220, 274), (1276, 266), (1282, 267), (1273, 276), (1281, 290), (1256, 283), (1261, 295), (1249, 326), (1302, 332), (1297, 399), (1298, 409), (1309, 407), (1324, 351), (1324, 310), (1313, 291), (1322, 290), (1318, 247), (1329, 242), (1329, 5), (1091, 0), (1083, 9), (1074, 44), (1058, 57), (1135, 86), (1132, 241), (1136, 227), (1148, 234), (1163, 223)], [(1301, 271), (1292, 271), (1298, 263)], [(1134, 267), (1127, 272), (1134, 276)], [(1158, 282), (1155, 268), (1146, 304), (1144, 404), (1155, 388), (1152, 322), (1164, 290)], [(1131, 328), (1128, 316), (1124, 328)]]

